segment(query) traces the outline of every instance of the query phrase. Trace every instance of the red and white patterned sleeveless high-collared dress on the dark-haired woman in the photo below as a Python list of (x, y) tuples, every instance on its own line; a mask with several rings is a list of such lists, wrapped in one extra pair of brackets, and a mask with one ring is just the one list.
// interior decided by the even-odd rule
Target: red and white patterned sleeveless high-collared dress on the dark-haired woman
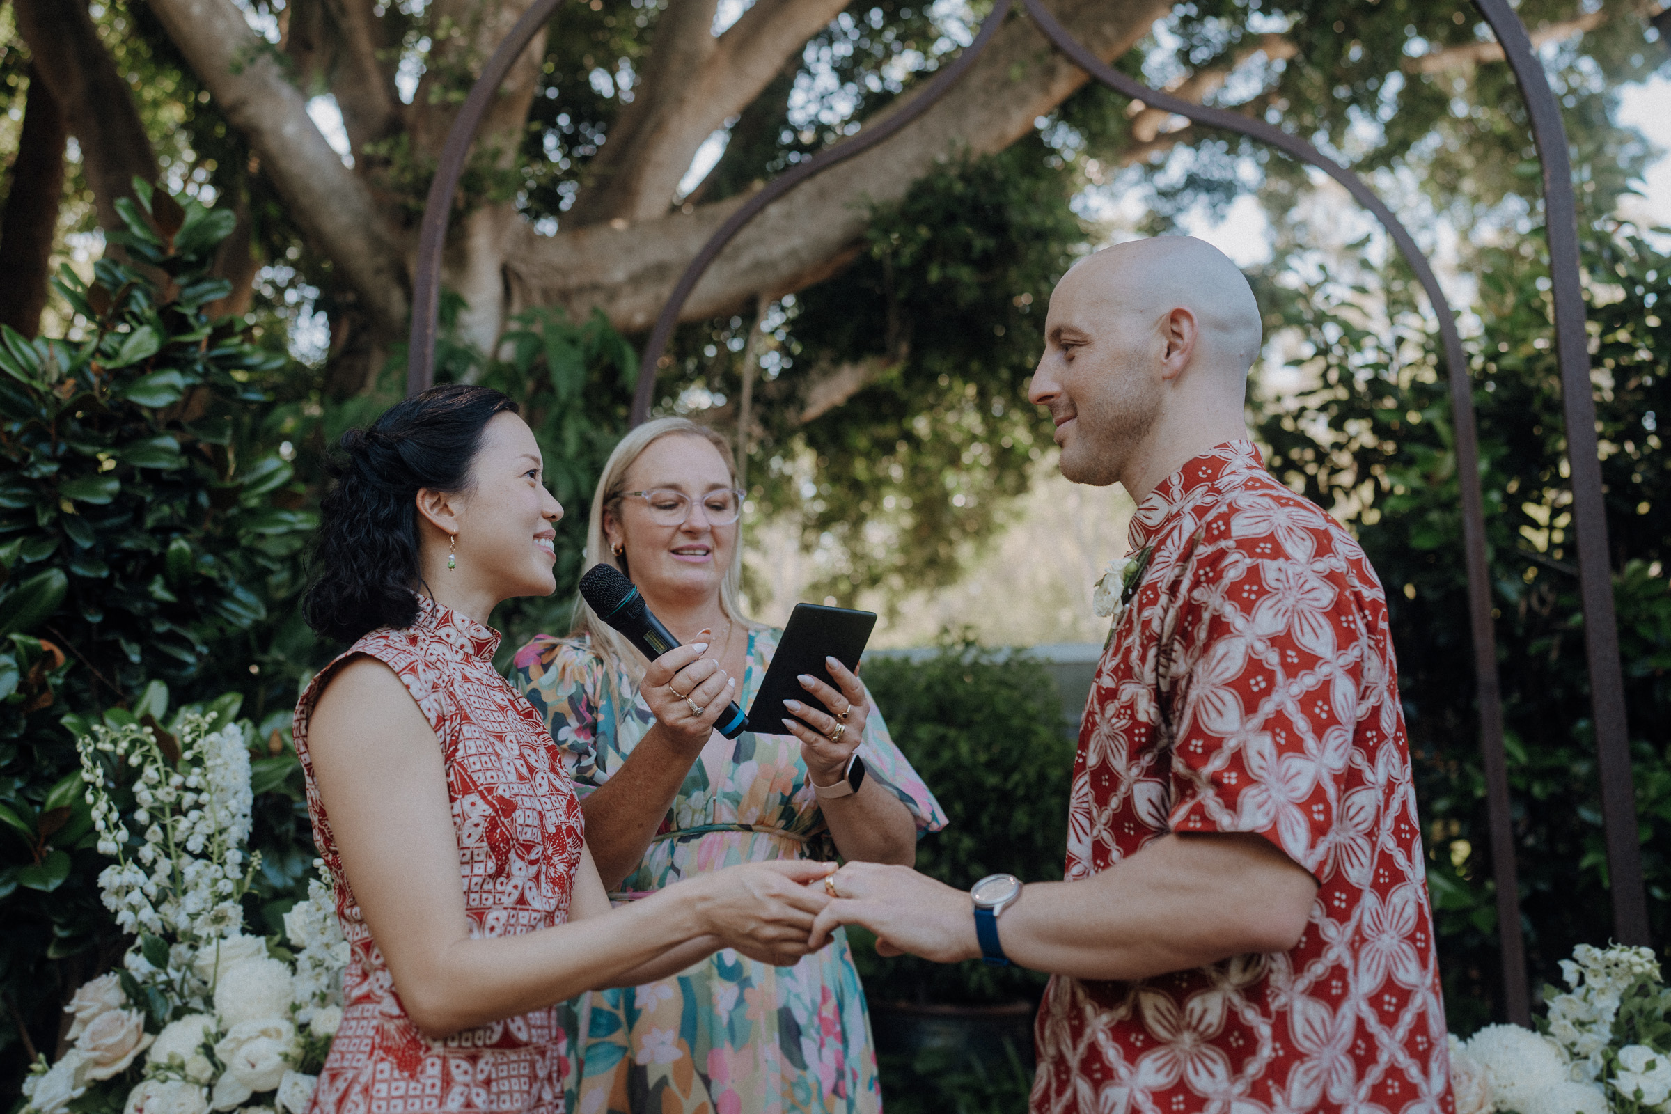
[(366, 635), (321, 670), (296, 705), (307, 813), (336, 882), (336, 915), (351, 949), (343, 1027), (309, 1114), (563, 1111), (568, 1061), (555, 1007), (444, 1041), (424, 1037), (406, 1017), (343, 875), (307, 758), (307, 720), (326, 680), (354, 655), (383, 661), (406, 683), (441, 740), (470, 935), (563, 924), (582, 850), (580, 803), (545, 723), (493, 670), (498, 645), (498, 631), (424, 600), (411, 628)]

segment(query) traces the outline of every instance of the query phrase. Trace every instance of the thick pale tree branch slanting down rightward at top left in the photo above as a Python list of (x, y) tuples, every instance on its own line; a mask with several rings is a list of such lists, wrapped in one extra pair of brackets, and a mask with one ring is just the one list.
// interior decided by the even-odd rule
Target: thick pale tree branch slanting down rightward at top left
[(406, 274), (371, 190), (307, 117), (272, 48), (231, 0), (152, 0), (211, 95), (261, 155), (307, 239), (331, 257), (383, 329), (406, 324)]

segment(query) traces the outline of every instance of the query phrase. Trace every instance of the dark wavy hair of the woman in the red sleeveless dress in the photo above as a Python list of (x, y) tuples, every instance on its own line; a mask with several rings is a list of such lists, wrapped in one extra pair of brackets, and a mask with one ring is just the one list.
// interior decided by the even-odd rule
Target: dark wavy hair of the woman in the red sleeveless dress
[(353, 643), (418, 618), (418, 491), (470, 486), (481, 434), (516, 403), (455, 382), (396, 403), (366, 429), (343, 434), (319, 504), (312, 583), (302, 616), (326, 638)]

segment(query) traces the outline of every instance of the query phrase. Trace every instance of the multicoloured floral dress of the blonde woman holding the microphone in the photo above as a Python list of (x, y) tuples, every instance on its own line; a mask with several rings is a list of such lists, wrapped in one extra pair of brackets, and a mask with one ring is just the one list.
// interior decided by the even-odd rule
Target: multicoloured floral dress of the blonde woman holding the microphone
[[(780, 631), (749, 635), (744, 708)], [(516, 651), (516, 686), (545, 717), (576, 792), (610, 778), (655, 723), (638, 685), (613, 686), (587, 636), (540, 636)], [(904, 802), (917, 833), (946, 827), (934, 797), (872, 708), (859, 743), (867, 777)], [(832, 858), (800, 743), (717, 732), (690, 767), (638, 868), (610, 897), (632, 900), (742, 862)], [(861, 1114), (881, 1109), (864, 989), (846, 934), (794, 967), (732, 950), (645, 987), (597, 990), (560, 1007), (573, 1034), (566, 1099), (580, 1114)]]

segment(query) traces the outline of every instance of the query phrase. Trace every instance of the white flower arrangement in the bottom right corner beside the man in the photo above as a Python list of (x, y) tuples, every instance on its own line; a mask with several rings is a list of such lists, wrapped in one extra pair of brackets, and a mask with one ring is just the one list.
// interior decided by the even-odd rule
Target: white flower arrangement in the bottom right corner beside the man
[(1457, 1114), (1671, 1114), (1671, 990), (1654, 954), (1581, 944), (1561, 975), (1541, 1032), (1450, 1037)]

